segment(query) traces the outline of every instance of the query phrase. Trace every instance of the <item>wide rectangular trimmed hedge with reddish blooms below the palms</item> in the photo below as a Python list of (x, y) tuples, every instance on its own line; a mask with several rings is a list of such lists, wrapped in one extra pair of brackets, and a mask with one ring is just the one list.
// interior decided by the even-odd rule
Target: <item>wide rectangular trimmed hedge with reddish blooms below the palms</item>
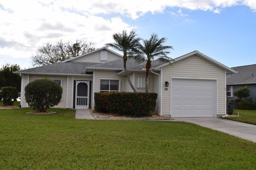
[(134, 117), (150, 116), (156, 108), (156, 93), (95, 92), (96, 112), (117, 113)]

